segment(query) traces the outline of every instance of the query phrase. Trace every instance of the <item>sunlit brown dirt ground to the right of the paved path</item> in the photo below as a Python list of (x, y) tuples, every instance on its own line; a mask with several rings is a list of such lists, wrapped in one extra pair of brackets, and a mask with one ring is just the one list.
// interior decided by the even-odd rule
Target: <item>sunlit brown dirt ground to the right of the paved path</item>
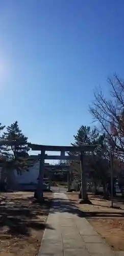
[(115, 199), (114, 205), (121, 209), (111, 208), (109, 200), (89, 195), (91, 205), (79, 204), (78, 193), (66, 193), (68, 199), (82, 211), (82, 218), (86, 218), (94, 229), (101, 234), (113, 250), (124, 251), (124, 201)]

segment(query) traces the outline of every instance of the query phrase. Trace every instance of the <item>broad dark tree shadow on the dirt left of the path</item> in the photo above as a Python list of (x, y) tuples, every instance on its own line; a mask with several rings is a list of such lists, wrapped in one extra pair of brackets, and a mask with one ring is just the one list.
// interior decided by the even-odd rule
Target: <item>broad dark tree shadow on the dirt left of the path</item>
[(0, 235), (3, 234), (3, 229), (6, 230), (4, 239), (6, 235), (30, 236), (31, 229), (53, 229), (44, 222), (50, 206), (51, 202), (48, 200), (40, 205), (33, 197), (6, 198), (0, 205)]

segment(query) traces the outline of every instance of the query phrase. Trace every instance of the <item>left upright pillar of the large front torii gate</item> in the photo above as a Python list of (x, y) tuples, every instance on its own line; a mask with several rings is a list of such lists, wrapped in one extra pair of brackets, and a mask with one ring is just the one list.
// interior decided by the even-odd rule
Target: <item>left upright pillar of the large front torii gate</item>
[(37, 196), (40, 200), (43, 199), (44, 158), (45, 158), (45, 151), (41, 151), (39, 179), (38, 179), (38, 188), (37, 188)]

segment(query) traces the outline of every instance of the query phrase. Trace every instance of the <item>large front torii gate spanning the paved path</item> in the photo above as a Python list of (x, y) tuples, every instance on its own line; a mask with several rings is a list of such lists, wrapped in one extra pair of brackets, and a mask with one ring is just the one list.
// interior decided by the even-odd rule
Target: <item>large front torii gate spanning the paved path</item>
[[(43, 198), (43, 176), (44, 176), (44, 160), (45, 159), (57, 159), (57, 160), (80, 160), (81, 162), (81, 184), (82, 184), (82, 199), (87, 199), (86, 193), (86, 172), (84, 168), (83, 156), (85, 152), (93, 152), (96, 145), (87, 145), (87, 146), (50, 146), (50, 145), (38, 145), (31, 144), (29, 146), (32, 148), (32, 151), (40, 151), (40, 168), (39, 168), (39, 179), (37, 186), (37, 197), (42, 200)], [(45, 151), (59, 151), (61, 152), (60, 156), (48, 156), (45, 154)], [(80, 152), (79, 156), (65, 156), (65, 152)]]

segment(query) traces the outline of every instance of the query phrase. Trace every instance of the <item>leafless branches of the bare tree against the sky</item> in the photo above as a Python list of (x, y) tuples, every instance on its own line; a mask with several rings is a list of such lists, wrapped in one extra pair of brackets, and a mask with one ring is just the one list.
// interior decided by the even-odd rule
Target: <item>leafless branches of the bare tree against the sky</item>
[(94, 92), (94, 101), (89, 111), (101, 124), (111, 146), (120, 157), (124, 155), (124, 82), (114, 75), (108, 79), (110, 94), (106, 98), (102, 90)]

